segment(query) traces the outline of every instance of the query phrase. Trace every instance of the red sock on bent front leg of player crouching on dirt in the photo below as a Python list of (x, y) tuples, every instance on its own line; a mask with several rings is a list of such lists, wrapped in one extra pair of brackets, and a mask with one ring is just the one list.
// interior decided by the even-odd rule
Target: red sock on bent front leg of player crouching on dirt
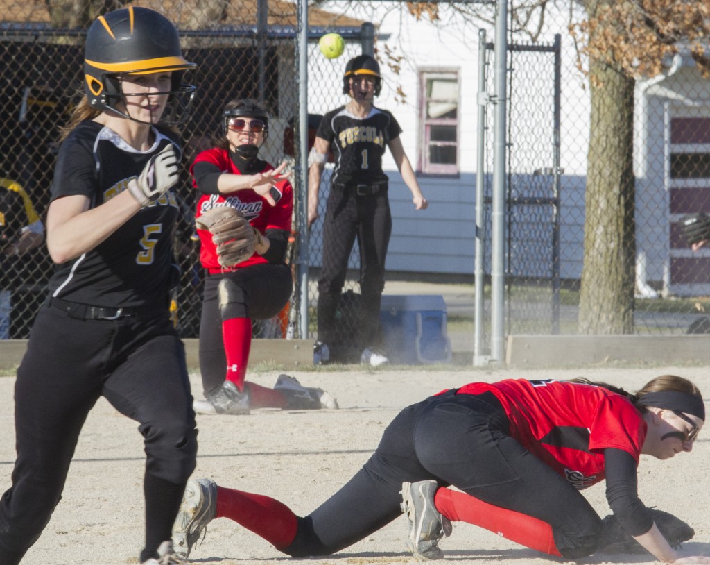
[(559, 555), (552, 527), (537, 518), (493, 506), (458, 490), (439, 488), (434, 497), (437, 510), (454, 522), (468, 522), (550, 555)]

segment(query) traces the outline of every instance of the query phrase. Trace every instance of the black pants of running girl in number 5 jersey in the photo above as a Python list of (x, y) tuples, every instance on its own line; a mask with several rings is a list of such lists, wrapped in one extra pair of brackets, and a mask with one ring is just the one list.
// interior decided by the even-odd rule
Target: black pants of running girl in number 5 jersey
[[(197, 429), (185, 349), (167, 308), (160, 320), (84, 321), (45, 306), (15, 384), (17, 459), (12, 486), (0, 499), (3, 565), (17, 564), (48, 524), (84, 421), (101, 396), (138, 422), (146, 484), (175, 485), (167, 489), (170, 500), (155, 501), (157, 510), (146, 502), (146, 540), (170, 539), (195, 469)], [(154, 512), (160, 519), (152, 520)]]

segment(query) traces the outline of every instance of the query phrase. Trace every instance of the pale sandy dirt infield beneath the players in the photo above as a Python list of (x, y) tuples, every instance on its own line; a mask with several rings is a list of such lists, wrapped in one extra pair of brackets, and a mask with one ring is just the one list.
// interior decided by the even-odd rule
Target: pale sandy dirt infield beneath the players
[[(474, 380), (588, 377), (636, 389), (657, 375), (688, 377), (710, 395), (708, 367), (585, 368), (578, 370), (406, 370), (296, 372), (303, 384), (327, 389), (337, 411), (258, 410), (249, 416), (198, 416), (200, 453), (195, 476), (225, 486), (273, 495), (305, 515), (334, 493), (376, 447), (385, 426), (408, 404), (441, 389)], [(251, 375), (272, 386), (278, 372)], [(14, 461), (13, 377), (0, 378), (0, 491), (10, 485)], [(192, 377), (200, 396), (199, 378)], [(143, 539), (143, 446), (136, 423), (103, 399), (94, 408), (75, 455), (64, 497), (23, 565), (127, 565), (138, 563)], [(710, 555), (710, 432), (701, 432), (693, 453), (660, 462), (642, 457), (639, 490), (649, 506), (673, 512), (694, 527), (684, 554)], [(585, 491), (601, 515), (608, 514), (603, 485)], [(356, 512), (357, 509), (352, 509)], [(457, 564), (544, 564), (545, 559), (469, 524), (454, 524), (441, 544)], [(267, 542), (229, 520), (216, 520), (192, 553), (198, 564), (293, 564)], [(413, 561), (400, 518), (325, 564), (400, 564)], [(584, 564), (650, 563), (650, 555), (592, 556)]]

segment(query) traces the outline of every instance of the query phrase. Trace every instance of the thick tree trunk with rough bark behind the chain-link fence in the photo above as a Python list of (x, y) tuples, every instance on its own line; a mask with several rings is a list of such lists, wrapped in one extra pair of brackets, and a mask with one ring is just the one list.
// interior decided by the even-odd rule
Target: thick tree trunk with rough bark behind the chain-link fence
[(591, 124), (586, 178), (580, 333), (633, 333), (634, 80), (590, 61)]

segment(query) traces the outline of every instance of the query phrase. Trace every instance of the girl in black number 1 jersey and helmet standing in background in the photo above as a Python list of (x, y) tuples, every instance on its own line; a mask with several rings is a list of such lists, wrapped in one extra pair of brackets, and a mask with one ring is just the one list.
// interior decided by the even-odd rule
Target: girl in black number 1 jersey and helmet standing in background
[(417, 210), (427, 199), (417, 183), (400, 140), (399, 124), (373, 99), (381, 90), (380, 65), (370, 55), (359, 55), (346, 65), (343, 93), (350, 102), (325, 114), (315, 137), (308, 172), (308, 225), (318, 217), (318, 192), (329, 151), (335, 157), (330, 194), (323, 222), (323, 260), (318, 281), (318, 340), (314, 361), (330, 358), (334, 323), (345, 282), (350, 250), (357, 238), (360, 248), (361, 362), (381, 365), (387, 357), (378, 352), (385, 259), (392, 232), (387, 197), (387, 175), (382, 156), (388, 147), (403, 181), (412, 192)]

